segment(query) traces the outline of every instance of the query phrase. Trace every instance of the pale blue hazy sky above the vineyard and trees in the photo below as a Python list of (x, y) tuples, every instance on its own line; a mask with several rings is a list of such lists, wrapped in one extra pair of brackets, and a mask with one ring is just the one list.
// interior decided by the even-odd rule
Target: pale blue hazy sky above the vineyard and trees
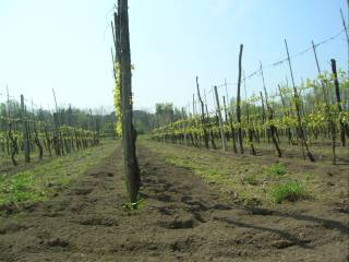
[[(116, 0), (0, 0), (0, 102), (23, 94), (35, 107), (59, 106), (112, 110), (113, 78), (110, 21)], [(339, 10), (346, 0), (129, 0), (134, 108), (154, 111), (159, 102), (184, 107), (195, 93), (195, 78), (213, 105), (237, 93), (238, 56), (249, 75), (265, 70), (267, 90), (290, 79), (287, 63), (267, 67), (311, 41), (342, 31)], [(329, 60), (348, 70), (345, 34), (318, 46), (322, 70)], [(296, 83), (314, 78), (312, 51), (292, 59)], [(246, 95), (263, 88), (260, 76), (246, 80)]]

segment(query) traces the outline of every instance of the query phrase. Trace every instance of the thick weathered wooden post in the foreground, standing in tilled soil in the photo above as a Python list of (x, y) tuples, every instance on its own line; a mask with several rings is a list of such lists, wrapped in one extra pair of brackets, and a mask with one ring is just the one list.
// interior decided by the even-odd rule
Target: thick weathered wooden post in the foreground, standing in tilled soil
[[(135, 153), (136, 131), (132, 124), (132, 73), (129, 35), (128, 0), (119, 0), (118, 19), (120, 35), (120, 71), (121, 71), (121, 109), (122, 109), (122, 142), (125, 176), (131, 203), (136, 203), (141, 186), (140, 169)], [(117, 33), (117, 35), (118, 35)]]

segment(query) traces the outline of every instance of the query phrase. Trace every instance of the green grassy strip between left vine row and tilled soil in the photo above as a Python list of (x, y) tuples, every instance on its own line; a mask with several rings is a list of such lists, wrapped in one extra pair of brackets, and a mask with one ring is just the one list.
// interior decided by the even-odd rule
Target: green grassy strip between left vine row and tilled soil
[(115, 150), (115, 141), (104, 141), (97, 147), (74, 151), (69, 155), (45, 156), (17, 166), (2, 162), (0, 168), (0, 214), (50, 199), (88, 168), (97, 165)]

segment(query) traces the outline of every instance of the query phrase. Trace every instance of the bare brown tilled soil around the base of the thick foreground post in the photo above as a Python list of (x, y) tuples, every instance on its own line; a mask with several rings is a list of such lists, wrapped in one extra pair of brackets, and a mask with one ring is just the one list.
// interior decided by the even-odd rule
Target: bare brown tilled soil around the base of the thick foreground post
[(245, 210), (157, 157), (140, 146), (141, 210), (122, 207), (117, 151), (51, 201), (1, 217), (0, 261), (349, 261), (347, 209)]

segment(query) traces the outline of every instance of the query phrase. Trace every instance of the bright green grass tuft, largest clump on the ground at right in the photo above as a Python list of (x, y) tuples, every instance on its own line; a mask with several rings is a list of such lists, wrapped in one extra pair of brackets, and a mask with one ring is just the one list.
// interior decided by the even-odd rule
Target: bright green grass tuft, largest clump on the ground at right
[(305, 188), (298, 181), (279, 183), (270, 187), (269, 196), (274, 203), (281, 203), (285, 200), (298, 201), (306, 196)]

